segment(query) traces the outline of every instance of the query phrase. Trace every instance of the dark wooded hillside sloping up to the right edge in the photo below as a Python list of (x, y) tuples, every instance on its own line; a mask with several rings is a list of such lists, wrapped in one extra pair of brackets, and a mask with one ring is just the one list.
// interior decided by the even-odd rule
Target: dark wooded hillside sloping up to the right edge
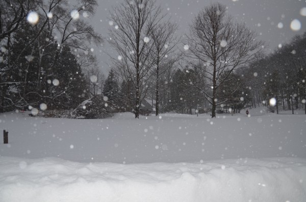
[(274, 106), (277, 113), (280, 107), (292, 113), (304, 107), (306, 113), (306, 33), (269, 55), (258, 55), (241, 74), (248, 81), (254, 107)]

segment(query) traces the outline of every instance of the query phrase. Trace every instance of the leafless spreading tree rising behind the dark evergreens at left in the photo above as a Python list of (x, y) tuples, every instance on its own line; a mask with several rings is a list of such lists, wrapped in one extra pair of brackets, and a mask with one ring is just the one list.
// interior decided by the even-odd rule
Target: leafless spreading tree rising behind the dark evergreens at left
[[(54, 1), (54, 0), (49, 0)], [(61, 1), (61, 0), (57, 0)], [(97, 7), (96, 0), (80, 0), (72, 9), (63, 5), (55, 8), (52, 27), (53, 32), (57, 34), (58, 51), (54, 55), (54, 66), (57, 63), (63, 46), (67, 45), (75, 52), (81, 67), (96, 65), (96, 58), (88, 47), (93, 42), (96, 45), (103, 43), (103, 37), (94, 31), (94, 28), (86, 21), (79, 19), (80, 15), (89, 17), (94, 15)], [(44, 13), (47, 13), (41, 8)]]

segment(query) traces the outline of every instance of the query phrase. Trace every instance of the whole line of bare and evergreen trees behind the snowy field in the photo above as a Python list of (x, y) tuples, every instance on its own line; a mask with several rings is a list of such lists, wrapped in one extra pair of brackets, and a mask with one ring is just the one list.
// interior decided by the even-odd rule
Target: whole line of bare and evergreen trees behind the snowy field
[[(110, 12), (107, 41), (116, 54), (105, 78), (90, 48), (104, 40), (86, 20), (97, 2), (66, 3), (1, 2), (2, 111), (41, 103), (82, 111), (94, 101), (93, 113), (132, 111), (139, 118), (147, 99), (156, 116), (200, 105), (214, 118), (218, 108), (239, 111), (271, 98), (277, 112), (305, 104), (305, 35), (267, 55), (257, 33), (222, 4), (203, 8), (180, 36), (154, 0), (123, 0)], [(27, 19), (31, 12), (37, 22)]]

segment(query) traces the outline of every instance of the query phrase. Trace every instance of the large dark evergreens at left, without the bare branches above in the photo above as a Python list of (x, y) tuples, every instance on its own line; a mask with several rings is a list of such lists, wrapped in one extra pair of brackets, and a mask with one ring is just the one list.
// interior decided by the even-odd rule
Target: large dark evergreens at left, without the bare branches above
[[(68, 46), (63, 46), (59, 59), (53, 64), (53, 55), (58, 45), (48, 32), (29, 44), (29, 38), (36, 34), (33, 27), (24, 26), (13, 39), (10, 69), (2, 80), (10, 88), (2, 88), (6, 102), (5, 110), (25, 109), (30, 105), (39, 107), (45, 103), (49, 109), (76, 107), (86, 99), (86, 86), (80, 65)], [(47, 37), (48, 36), (48, 37)], [(48, 39), (48, 40), (46, 40)]]

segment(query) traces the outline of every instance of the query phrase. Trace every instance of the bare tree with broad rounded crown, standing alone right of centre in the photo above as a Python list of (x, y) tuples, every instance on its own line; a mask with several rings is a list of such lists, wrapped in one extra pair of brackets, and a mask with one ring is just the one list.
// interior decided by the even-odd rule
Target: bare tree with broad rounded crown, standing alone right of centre
[(192, 85), (212, 104), (212, 118), (216, 117), (217, 90), (228, 76), (243, 64), (248, 63), (262, 47), (257, 34), (244, 23), (236, 23), (227, 14), (226, 6), (213, 3), (205, 7), (193, 19), (185, 45), (186, 55), (192, 62), (196, 59), (206, 64), (205, 76), (211, 91)]

